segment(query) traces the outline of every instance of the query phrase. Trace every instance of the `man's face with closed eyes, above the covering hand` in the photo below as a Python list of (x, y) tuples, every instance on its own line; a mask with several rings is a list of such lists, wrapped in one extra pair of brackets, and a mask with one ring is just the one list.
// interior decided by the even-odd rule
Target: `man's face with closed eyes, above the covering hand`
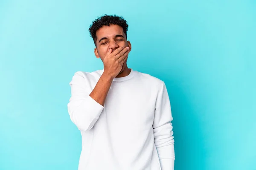
[(131, 50), (131, 43), (126, 40), (125, 33), (121, 26), (113, 24), (110, 26), (103, 26), (96, 31), (96, 37), (97, 40), (94, 53), (95, 56), (102, 61), (110, 48), (112, 48), (112, 52), (121, 46), (128, 46)]

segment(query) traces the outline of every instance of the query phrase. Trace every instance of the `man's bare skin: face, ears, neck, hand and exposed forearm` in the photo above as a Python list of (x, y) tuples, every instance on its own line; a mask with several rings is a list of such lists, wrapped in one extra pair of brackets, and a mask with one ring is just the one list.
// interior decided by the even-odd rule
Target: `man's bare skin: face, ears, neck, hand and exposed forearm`
[[(126, 40), (123, 28), (118, 25), (102, 26), (96, 31), (94, 54), (104, 64), (104, 72), (90, 96), (104, 106), (105, 99), (115, 77), (125, 77), (131, 70), (127, 67), (131, 43)], [(127, 48), (128, 47), (128, 48)]]

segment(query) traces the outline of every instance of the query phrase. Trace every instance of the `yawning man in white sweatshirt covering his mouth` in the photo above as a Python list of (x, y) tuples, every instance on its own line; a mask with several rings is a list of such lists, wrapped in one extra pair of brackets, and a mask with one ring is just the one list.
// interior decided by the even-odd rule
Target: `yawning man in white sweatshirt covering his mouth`
[(173, 170), (172, 113), (165, 83), (127, 67), (131, 42), (123, 17), (105, 15), (89, 28), (102, 70), (70, 82), (70, 119), (79, 128), (79, 170)]

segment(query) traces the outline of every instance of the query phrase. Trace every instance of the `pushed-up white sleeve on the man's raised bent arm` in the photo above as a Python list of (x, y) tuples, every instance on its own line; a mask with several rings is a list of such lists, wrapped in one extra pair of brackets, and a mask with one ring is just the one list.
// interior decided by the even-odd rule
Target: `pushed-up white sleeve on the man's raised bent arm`
[(90, 130), (99, 119), (104, 107), (89, 96), (88, 82), (81, 72), (75, 73), (70, 87), (71, 97), (67, 104), (70, 119), (79, 130)]

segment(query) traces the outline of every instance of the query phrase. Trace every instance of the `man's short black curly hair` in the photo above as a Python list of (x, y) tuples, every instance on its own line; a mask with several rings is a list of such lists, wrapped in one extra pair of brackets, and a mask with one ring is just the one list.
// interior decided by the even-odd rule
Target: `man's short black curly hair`
[(123, 17), (105, 14), (102, 17), (99, 17), (96, 20), (94, 20), (89, 28), (90, 37), (93, 38), (95, 46), (97, 40), (96, 31), (102, 26), (109, 26), (110, 24), (116, 24), (121, 26), (123, 28), (127, 40), (128, 23), (126, 22), (126, 20), (124, 20)]

